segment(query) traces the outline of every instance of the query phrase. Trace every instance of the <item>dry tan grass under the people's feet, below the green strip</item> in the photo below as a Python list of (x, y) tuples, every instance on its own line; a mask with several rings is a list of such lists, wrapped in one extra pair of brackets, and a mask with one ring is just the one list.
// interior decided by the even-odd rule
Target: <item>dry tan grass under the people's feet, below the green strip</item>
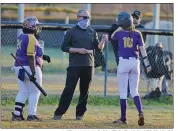
[[(112, 121), (120, 116), (119, 106), (88, 106), (88, 111), (85, 113), (82, 121), (75, 120), (75, 106), (70, 106), (62, 120), (52, 120), (56, 106), (39, 106), (38, 116), (42, 119), (40, 122), (12, 122), (11, 111), (12, 106), (2, 107), (2, 128), (106, 128), (106, 129), (121, 129), (121, 128), (173, 128), (173, 107), (172, 106), (146, 106), (145, 126), (137, 125), (137, 111), (135, 107), (128, 108), (128, 125), (113, 124)], [(25, 112), (27, 109), (25, 108)], [(25, 117), (27, 114), (25, 114)]]

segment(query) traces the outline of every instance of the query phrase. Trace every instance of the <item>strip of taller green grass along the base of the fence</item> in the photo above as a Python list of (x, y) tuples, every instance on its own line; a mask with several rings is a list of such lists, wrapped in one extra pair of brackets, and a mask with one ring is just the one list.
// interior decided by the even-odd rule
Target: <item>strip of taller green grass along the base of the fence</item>
[[(59, 96), (57, 95), (49, 95), (48, 97), (44, 97), (41, 95), (39, 99), (39, 105), (57, 105), (59, 100)], [(15, 101), (15, 97), (4, 97), (1, 98), (1, 105), (13, 105)], [(78, 102), (78, 96), (74, 96), (72, 99), (71, 104), (76, 105)], [(149, 100), (142, 100), (143, 105), (173, 105), (173, 97), (161, 97), (159, 99), (149, 99)], [(93, 106), (119, 106), (119, 97), (116, 96), (94, 96), (90, 95), (88, 98), (88, 104)], [(128, 99), (128, 105), (134, 106), (133, 99)]]

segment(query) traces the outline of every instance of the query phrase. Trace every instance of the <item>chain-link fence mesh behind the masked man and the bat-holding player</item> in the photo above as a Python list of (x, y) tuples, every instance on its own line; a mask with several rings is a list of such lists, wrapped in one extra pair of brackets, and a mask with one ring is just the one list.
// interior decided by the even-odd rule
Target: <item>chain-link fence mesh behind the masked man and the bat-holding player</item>
[[(44, 62), (43, 69), (43, 88), (49, 95), (61, 94), (65, 87), (66, 68), (68, 66), (68, 53), (61, 51), (60, 46), (64, 39), (64, 31), (43, 30), (40, 33), (44, 41), (44, 54), (51, 57), (51, 63)], [(99, 32), (101, 36), (102, 32)], [(17, 78), (11, 70), (14, 59), (10, 53), (16, 52), (17, 29), (3, 28), (1, 30), (1, 96), (16, 95), (18, 91)], [(103, 50), (103, 56), (107, 53), (108, 73), (107, 73), (107, 95), (118, 95), (117, 88), (117, 64), (112, 44), (108, 44), (108, 52)], [(172, 51), (172, 50), (171, 50)], [(101, 61), (104, 57), (97, 55), (96, 61)], [(104, 94), (104, 66), (95, 69), (95, 75), (90, 87), (90, 95)], [(139, 92), (141, 95), (147, 92), (145, 80), (140, 81)], [(79, 93), (77, 85), (75, 94)]]

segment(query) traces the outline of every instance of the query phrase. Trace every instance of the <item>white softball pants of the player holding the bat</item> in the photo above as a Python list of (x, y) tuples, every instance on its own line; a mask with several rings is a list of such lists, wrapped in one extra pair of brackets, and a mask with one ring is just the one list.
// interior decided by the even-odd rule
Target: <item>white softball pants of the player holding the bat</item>
[[(20, 66), (13, 67), (15, 70), (15, 74), (18, 77)], [(31, 70), (29, 66), (24, 66), (24, 68), (31, 74)], [(36, 67), (36, 82), (39, 85), (42, 85), (42, 71), (39, 66)], [(16, 102), (24, 103), (28, 98), (28, 115), (36, 115), (37, 112), (37, 104), (40, 96), (40, 91), (38, 88), (29, 80), (29, 77), (25, 73), (25, 81), (21, 81), (18, 79), (18, 87), (19, 91), (16, 96)]]

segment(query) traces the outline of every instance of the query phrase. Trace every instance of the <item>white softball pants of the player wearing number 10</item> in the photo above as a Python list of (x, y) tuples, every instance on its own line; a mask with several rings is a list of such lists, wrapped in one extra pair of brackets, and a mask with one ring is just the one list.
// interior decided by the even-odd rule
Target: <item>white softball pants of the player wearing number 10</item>
[(132, 97), (138, 96), (138, 84), (140, 77), (140, 61), (136, 58), (123, 59), (119, 58), (117, 68), (117, 81), (120, 93), (120, 99), (127, 99), (128, 81), (130, 94)]

